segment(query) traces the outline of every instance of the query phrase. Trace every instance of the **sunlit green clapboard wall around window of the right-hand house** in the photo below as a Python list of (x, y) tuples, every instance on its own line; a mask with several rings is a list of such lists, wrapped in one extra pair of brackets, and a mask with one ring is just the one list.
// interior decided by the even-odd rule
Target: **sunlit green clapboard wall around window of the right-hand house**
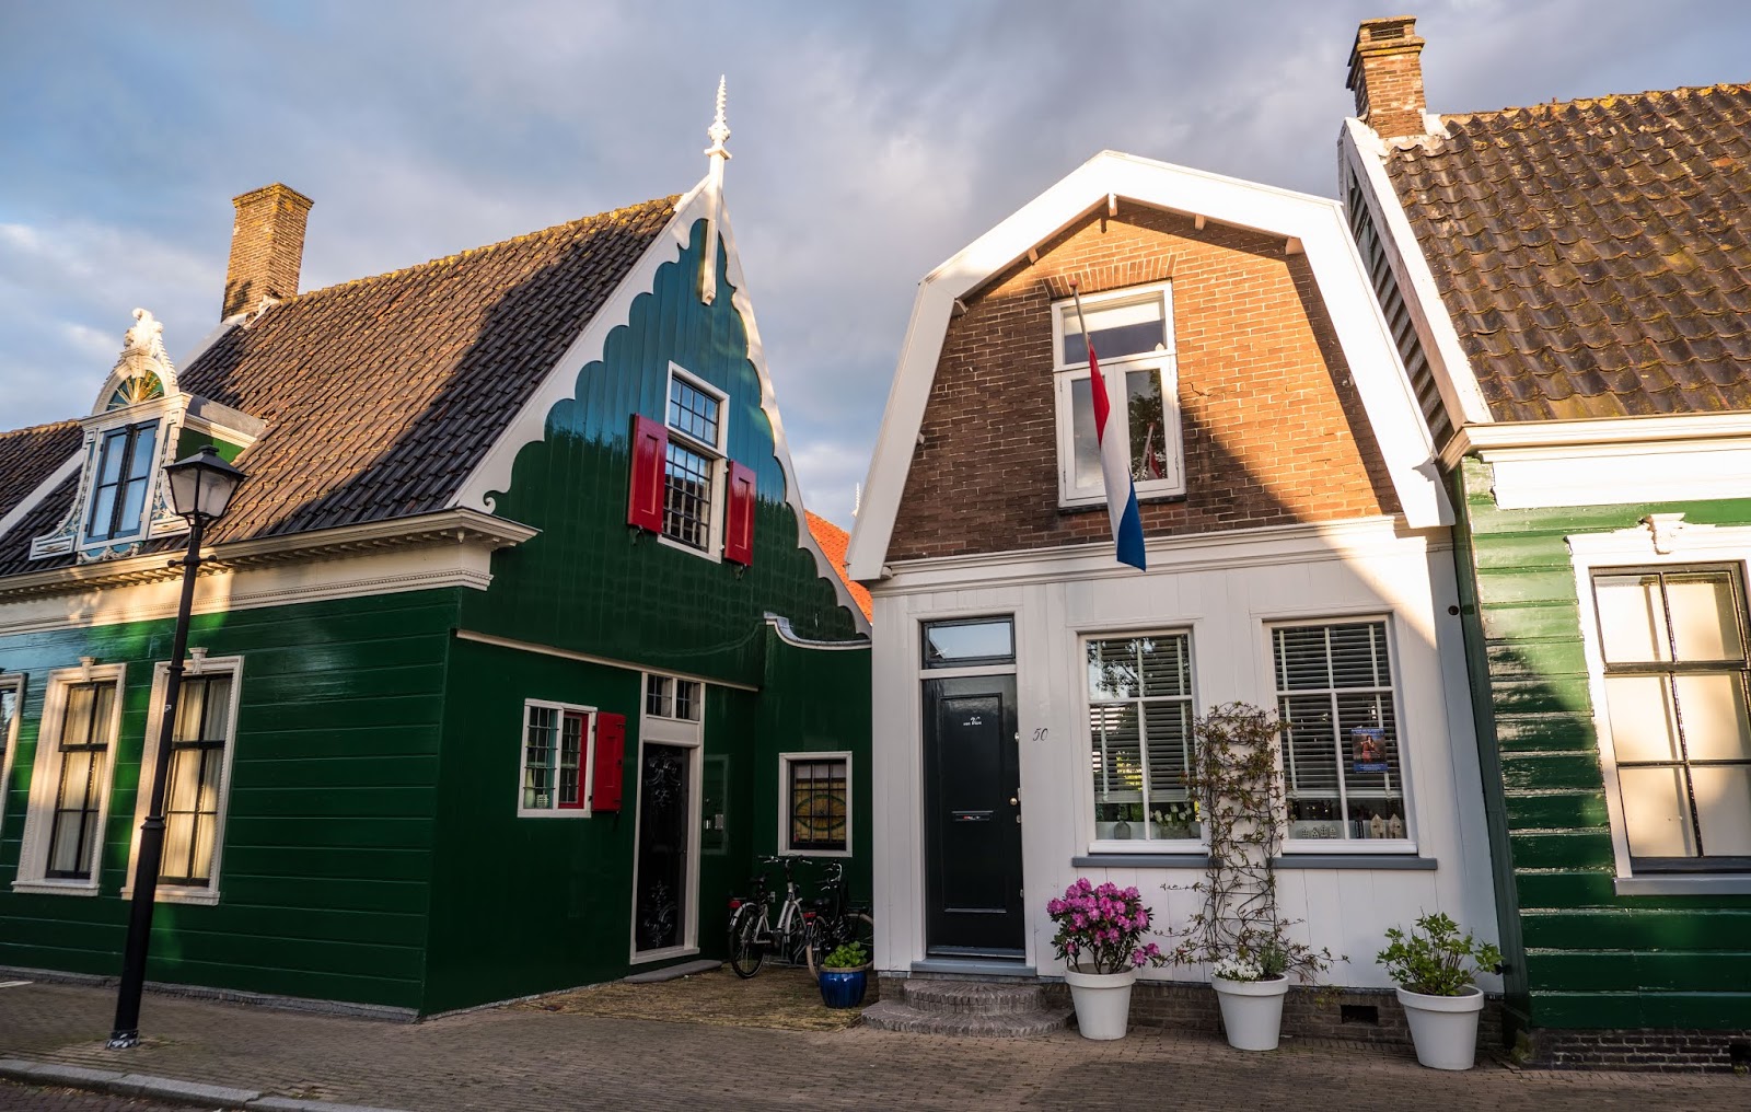
[[(1455, 475), (1460, 580), (1485, 800), (1516, 968), (1509, 1007), (1543, 1028), (1751, 1028), (1751, 897), (1620, 897), (1564, 538), (1648, 513), (1751, 524), (1751, 499), (1499, 510), (1487, 464)], [(1474, 601), (1474, 606), (1473, 606)], [(1480, 660), (1481, 657), (1481, 660)], [(1488, 727), (1494, 723), (1494, 728)], [(1492, 774), (1492, 769), (1495, 771)], [(1511, 919), (1518, 907), (1518, 921)]]

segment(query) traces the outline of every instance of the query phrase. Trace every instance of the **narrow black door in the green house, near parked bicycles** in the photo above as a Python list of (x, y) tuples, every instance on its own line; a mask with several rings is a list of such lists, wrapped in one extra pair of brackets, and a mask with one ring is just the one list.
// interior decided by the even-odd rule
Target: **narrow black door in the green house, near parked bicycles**
[(688, 767), (692, 750), (646, 744), (639, 760), (637, 949), (686, 944)]

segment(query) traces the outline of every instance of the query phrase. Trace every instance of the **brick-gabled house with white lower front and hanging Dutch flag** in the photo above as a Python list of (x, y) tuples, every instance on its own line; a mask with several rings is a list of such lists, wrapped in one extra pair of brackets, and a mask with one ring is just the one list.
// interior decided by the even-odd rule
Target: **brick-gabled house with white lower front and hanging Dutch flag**
[[(1114, 559), (1072, 280), (1129, 385), (1147, 573)], [(1420, 911), (1492, 933), (1452, 511), (1397, 359), (1336, 203), (1128, 154), (925, 277), (849, 557), (884, 975), (1061, 975), (1077, 877), (1184, 923), (1187, 728), (1229, 700), (1294, 723), (1282, 897), (1338, 984), (1383, 988)]]

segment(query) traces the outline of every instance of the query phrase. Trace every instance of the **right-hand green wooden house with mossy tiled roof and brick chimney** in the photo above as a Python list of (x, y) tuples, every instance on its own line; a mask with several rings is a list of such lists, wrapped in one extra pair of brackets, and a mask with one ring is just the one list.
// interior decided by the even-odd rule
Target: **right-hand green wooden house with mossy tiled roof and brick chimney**
[(1341, 177), (1459, 508), (1509, 1026), (1744, 1065), (1751, 86), (1438, 117), (1413, 32)]

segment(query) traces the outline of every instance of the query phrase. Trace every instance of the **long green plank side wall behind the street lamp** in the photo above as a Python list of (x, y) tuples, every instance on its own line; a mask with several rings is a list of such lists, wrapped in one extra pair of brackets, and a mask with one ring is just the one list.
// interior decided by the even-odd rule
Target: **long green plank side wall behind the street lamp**
[[(418, 1007), (443, 669), (457, 592), (203, 615), (191, 644), (243, 657), (221, 902), (159, 904), (151, 981)], [(26, 672), (0, 818), (0, 965), (114, 975), (152, 667), (172, 622), (0, 637)], [(11, 891), (51, 669), (126, 664), (100, 895)]]

